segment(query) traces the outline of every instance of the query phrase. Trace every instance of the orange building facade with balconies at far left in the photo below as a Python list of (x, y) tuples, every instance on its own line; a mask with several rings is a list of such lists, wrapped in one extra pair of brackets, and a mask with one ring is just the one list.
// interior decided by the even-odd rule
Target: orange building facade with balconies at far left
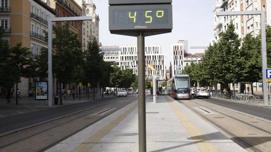
[[(51, 3), (44, 0), (1, 0), (0, 26), (4, 28), (4, 40), (13, 47), (22, 43), (30, 48), (31, 57), (38, 59), (42, 47), (47, 48), (45, 31), (48, 31), (48, 18), (56, 15)], [(28, 90), (34, 87), (38, 78), (21, 78), (18, 84), (22, 96), (28, 96)], [(2, 90), (2, 89), (1, 89)], [(14, 90), (14, 89), (13, 89)], [(0, 92), (1, 95), (2, 92)], [(16, 95), (13, 93), (13, 95)]]

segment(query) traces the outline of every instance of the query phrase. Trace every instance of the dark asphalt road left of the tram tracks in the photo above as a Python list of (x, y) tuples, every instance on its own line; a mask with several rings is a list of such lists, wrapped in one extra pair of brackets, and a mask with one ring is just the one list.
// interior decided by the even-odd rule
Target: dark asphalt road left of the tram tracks
[(63, 115), (68, 115), (90, 107), (99, 106), (101, 104), (109, 103), (117, 99), (124, 98), (112, 97), (106, 99), (99, 99), (91, 102), (77, 103), (63, 107), (50, 108), (46, 110), (15, 115), (11, 117), (4, 117), (0, 119), (0, 134), (7, 131), (12, 131), (29, 125), (33, 125), (35, 123), (40, 123), (46, 120), (54, 119)]

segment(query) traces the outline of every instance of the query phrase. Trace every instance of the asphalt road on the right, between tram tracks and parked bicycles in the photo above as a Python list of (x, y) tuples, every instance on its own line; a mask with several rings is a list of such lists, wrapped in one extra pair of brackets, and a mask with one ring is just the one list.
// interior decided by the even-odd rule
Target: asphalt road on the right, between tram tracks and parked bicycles
[(214, 98), (208, 98), (208, 99), (202, 99), (203, 101), (213, 103), (222, 107), (227, 107), (229, 109), (233, 109), (236, 111), (241, 111), (243, 113), (247, 113), (249, 115), (254, 115), (260, 118), (271, 120), (271, 109), (263, 108), (263, 107), (257, 107), (257, 106), (251, 106), (251, 105), (245, 105), (242, 103), (234, 103), (229, 102), (225, 100), (220, 99), (214, 99)]

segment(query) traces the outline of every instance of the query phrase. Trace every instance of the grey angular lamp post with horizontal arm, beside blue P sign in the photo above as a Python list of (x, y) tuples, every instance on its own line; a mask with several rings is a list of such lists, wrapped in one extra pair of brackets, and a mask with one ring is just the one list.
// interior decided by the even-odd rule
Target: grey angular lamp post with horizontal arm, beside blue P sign
[(264, 104), (268, 105), (268, 87), (267, 87), (268, 83), (265, 81), (265, 69), (267, 68), (265, 11), (252, 10), (252, 11), (216, 12), (216, 16), (229, 16), (229, 15), (260, 15), (261, 16), (261, 49), (262, 49), (261, 55), (262, 55), (263, 97), (264, 97)]

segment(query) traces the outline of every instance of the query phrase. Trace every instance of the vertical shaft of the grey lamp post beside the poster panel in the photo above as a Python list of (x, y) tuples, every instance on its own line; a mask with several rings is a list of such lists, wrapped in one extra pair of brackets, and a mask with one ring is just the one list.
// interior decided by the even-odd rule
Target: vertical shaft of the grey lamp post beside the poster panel
[(48, 19), (48, 106), (53, 104), (53, 72), (52, 72), (52, 21)]

